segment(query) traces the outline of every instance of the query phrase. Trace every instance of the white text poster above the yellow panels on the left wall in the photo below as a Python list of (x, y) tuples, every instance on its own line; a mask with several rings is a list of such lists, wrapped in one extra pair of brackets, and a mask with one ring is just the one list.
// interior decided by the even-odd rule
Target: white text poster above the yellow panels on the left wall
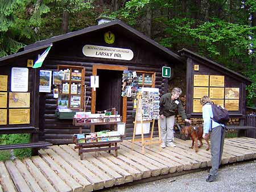
[(11, 68), (11, 91), (28, 91), (28, 68)]

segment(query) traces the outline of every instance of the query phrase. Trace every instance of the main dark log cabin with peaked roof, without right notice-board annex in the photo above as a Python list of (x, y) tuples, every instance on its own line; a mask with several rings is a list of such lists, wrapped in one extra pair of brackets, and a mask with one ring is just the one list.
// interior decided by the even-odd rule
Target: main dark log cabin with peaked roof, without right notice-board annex
[[(51, 44), (51, 50), (42, 67), (38, 69), (32, 69), (31, 65), (28, 67), (28, 63), (31, 60), (33, 60), (32, 63), (35, 62), (38, 55), (42, 54)], [(112, 52), (113, 55), (111, 55)], [(126, 123), (126, 137), (131, 138), (135, 110), (133, 99), (121, 97), (123, 70), (136, 71), (139, 76), (143, 77), (142, 86), (159, 88), (160, 94), (163, 94), (168, 91), (168, 78), (162, 77), (162, 66), (175, 68), (181, 63), (180, 56), (125, 23), (114, 20), (38, 41), (24, 47), (22, 52), (2, 57), (0, 75), (8, 76), (6, 93), (10, 94), (11, 70), (16, 66), (28, 69), (29, 80), (26, 93), (30, 93), (31, 96), (30, 107), (27, 108), (30, 120), (18, 126), (39, 127), (40, 140), (53, 144), (65, 144), (72, 143), (72, 134), (78, 133), (79, 128), (73, 126), (70, 116), (65, 118), (65, 116), (56, 114), (58, 105), (63, 105), (63, 101), (66, 101), (65, 105), (69, 108), (74, 107), (72, 103), (79, 103), (75, 106), (76, 110), (85, 109), (92, 113), (115, 107), (118, 114), (122, 116), (122, 122)], [(74, 76), (67, 77), (67, 81), (65, 80), (61, 85), (51, 83), (49, 93), (41, 92), (43, 85), (39, 88), (40, 71), (41, 73), (51, 71), (53, 75), (53, 72), (60, 70), (70, 70), (72, 72), (70, 74), (74, 73)], [(90, 87), (90, 76), (99, 76), (99, 87), (96, 90)], [(151, 84), (144, 84), (146, 77), (151, 78)], [(71, 91), (66, 93), (67, 85), (68, 89), (74, 85), (79, 93), (72, 94)], [(58, 102), (53, 94), (53, 89), (58, 86), (61, 86), (59, 98), (63, 97), (63, 99), (59, 100), (62, 103)], [(74, 95), (80, 98), (77, 99)], [(7, 122), (0, 125), (0, 128), (11, 126), (9, 124), (10, 110), (10, 106), (6, 105)], [(158, 129), (155, 128), (155, 130), (155, 135), (157, 135)], [(90, 128), (85, 126), (82, 132), (90, 132)]]

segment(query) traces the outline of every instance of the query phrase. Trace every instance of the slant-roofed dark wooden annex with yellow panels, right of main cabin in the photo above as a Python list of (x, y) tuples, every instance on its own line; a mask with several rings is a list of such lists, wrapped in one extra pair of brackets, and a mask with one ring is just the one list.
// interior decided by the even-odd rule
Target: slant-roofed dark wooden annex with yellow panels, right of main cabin
[(231, 119), (239, 119), (239, 126), (245, 126), (246, 85), (251, 84), (251, 81), (188, 49), (183, 48), (179, 53), (187, 60), (188, 117), (201, 117), (200, 98), (208, 95), (215, 104), (224, 106), (229, 111)]

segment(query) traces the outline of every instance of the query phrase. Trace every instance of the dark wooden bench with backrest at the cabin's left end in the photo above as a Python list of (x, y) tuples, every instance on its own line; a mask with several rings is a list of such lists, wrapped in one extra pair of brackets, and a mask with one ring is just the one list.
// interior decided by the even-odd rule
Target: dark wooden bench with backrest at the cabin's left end
[(31, 133), (32, 139), (30, 143), (7, 144), (0, 145), (0, 150), (32, 148), (32, 155), (38, 155), (38, 149), (51, 146), (52, 143), (47, 141), (38, 141), (39, 128), (35, 127), (3, 127), (0, 128), (2, 134)]

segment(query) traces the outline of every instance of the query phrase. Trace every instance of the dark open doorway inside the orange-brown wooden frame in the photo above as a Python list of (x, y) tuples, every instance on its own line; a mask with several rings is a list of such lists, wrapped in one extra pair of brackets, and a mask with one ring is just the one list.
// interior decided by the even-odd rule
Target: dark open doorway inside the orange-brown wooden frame
[[(115, 111), (122, 116), (122, 74), (121, 70), (97, 69), (99, 87), (96, 89), (96, 112), (111, 111), (111, 108), (115, 108)], [(96, 131), (101, 131), (106, 127), (96, 126), (95, 128)]]

